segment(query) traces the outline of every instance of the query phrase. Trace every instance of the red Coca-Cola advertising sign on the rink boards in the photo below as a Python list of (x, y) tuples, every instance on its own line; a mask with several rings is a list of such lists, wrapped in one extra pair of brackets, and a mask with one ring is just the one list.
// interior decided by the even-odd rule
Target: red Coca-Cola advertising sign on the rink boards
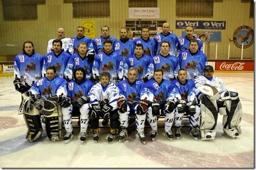
[(219, 71), (254, 71), (254, 63), (246, 61), (216, 61), (215, 70)]

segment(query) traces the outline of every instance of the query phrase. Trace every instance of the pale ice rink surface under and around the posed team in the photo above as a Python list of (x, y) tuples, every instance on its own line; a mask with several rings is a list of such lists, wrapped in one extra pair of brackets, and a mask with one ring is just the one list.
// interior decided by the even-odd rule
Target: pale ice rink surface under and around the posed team
[[(27, 127), (23, 116), (17, 115), (20, 94), (14, 90), (13, 78), (0, 78), (0, 167), (3, 168), (253, 168), (254, 167), (254, 73), (224, 73), (215, 75), (226, 86), (235, 88), (240, 95), (243, 109), (242, 134), (232, 139), (224, 135), (222, 116), (218, 118), (214, 140), (194, 140), (187, 127), (177, 140), (164, 136), (163, 120), (158, 121), (155, 141), (149, 140), (149, 128), (145, 128), (146, 144), (140, 143), (135, 127), (129, 138), (119, 143), (114, 138), (108, 144), (108, 128), (100, 128), (100, 140), (96, 144), (92, 135), (84, 144), (78, 141), (79, 129), (74, 128), (74, 138), (69, 144), (52, 143), (44, 132), (33, 143), (25, 141)], [(246, 88), (244, 88), (246, 87)], [(73, 120), (77, 127), (77, 120)], [(184, 121), (186, 124), (186, 120)]]

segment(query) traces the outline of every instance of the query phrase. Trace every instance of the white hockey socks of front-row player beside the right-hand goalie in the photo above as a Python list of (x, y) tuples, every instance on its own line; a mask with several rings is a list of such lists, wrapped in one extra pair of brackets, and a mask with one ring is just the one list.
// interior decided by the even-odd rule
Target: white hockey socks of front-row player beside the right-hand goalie
[[(175, 127), (181, 127), (182, 126), (182, 119), (183, 119), (183, 116), (184, 116), (185, 113), (186, 112), (179, 113), (178, 109), (177, 108), (175, 109), (175, 114), (174, 114), (175, 115), (174, 116), (174, 126)], [(196, 105), (196, 113), (193, 114), (193, 115), (188, 116), (190, 127), (199, 126), (200, 113), (201, 113), (200, 107)]]

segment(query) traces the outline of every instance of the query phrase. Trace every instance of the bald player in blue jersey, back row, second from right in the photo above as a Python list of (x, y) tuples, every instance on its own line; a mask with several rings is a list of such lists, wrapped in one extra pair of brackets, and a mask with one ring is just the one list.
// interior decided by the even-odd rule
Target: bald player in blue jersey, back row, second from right
[(170, 42), (170, 55), (176, 56), (178, 53), (178, 50), (180, 49), (180, 44), (178, 37), (170, 33), (170, 24), (169, 23), (164, 23), (162, 24), (162, 33), (157, 34), (154, 37), (154, 41), (156, 42), (156, 54), (161, 53), (161, 42), (167, 41)]

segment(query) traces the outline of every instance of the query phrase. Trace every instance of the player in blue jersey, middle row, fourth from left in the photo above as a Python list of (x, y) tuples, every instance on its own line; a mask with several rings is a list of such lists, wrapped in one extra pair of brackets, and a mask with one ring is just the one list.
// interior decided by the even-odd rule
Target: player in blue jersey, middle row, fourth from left
[(92, 77), (99, 79), (99, 74), (107, 71), (111, 74), (111, 82), (116, 83), (123, 78), (123, 59), (116, 52), (112, 51), (112, 41), (106, 39), (104, 41), (104, 52), (95, 56), (92, 66)]

